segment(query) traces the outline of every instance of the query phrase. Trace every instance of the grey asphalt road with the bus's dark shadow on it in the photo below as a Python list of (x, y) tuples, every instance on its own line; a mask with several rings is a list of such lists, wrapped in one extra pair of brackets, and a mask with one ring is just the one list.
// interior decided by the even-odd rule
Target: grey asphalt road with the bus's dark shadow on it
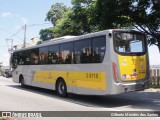
[[(70, 95), (68, 98), (60, 98), (54, 91), (35, 87), (22, 88), (13, 83), (11, 78), (0, 76), (0, 111), (160, 111), (160, 90), (112, 96)], [(106, 120), (106, 117), (103, 119)], [(145, 118), (147, 119), (150, 118)]]

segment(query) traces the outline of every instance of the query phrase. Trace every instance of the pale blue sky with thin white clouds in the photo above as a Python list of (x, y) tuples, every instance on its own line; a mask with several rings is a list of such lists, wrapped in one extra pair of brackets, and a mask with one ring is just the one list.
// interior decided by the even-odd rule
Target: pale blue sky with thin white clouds
[[(25, 24), (27, 24), (27, 42), (34, 37), (39, 37), (41, 29), (52, 26), (50, 22), (45, 21), (45, 18), (46, 13), (55, 3), (71, 6), (71, 0), (0, 1), (0, 62), (3, 62), (4, 66), (9, 65), (8, 48), (11, 38), (14, 45), (23, 44)], [(160, 65), (160, 53), (156, 46), (149, 47), (149, 59), (151, 65)]]

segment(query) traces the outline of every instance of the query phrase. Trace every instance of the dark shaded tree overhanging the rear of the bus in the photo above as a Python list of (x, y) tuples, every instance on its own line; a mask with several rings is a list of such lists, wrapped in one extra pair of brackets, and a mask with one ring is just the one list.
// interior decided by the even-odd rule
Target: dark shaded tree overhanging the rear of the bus
[(97, 0), (96, 24), (99, 30), (134, 26), (149, 35), (149, 44), (160, 51), (159, 0)]

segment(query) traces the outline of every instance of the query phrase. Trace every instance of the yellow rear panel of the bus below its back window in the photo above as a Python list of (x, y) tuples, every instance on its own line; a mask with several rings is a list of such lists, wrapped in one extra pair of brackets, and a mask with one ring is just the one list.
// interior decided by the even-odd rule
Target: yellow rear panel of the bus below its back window
[(122, 81), (135, 81), (146, 78), (146, 55), (118, 55), (118, 61), (120, 66), (120, 79)]

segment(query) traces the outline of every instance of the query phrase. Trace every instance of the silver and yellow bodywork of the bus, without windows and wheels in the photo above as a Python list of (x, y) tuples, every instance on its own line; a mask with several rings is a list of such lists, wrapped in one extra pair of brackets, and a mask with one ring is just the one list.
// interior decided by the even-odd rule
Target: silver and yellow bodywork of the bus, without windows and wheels
[[(139, 57), (124, 57), (115, 53), (113, 30), (83, 35), (82, 37), (72, 38), (68, 41), (71, 42), (81, 38), (101, 35), (106, 36), (105, 55), (102, 63), (18, 65), (13, 72), (13, 81), (19, 83), (19, 77), (23, 75), (26, 85), (55, 90), (57, 79), (63, 78), (67, 85), (67, 92), (85, 95), (119, 94), (147, 88), (148, 65), (145, 65), (148, 62), (147, 54)], [(57, 41), (54, 44), (59, 43), (61, 42)], [(46, 46), (48, 46), (48, 44), (46, 44)], [(126, 61), (127, 63), (125, 63)], [(136, 65), (133, 65), (133, 68), (131, 68), (131, 71), (126, 71), (125, 64), (131, 64), (133, 61), (141, 61), (140, 68), (136, 68), (136, 66), (138, 66), (138, 63), (136, 63)], [(115, 71), (113, 70), (113, 64), (116, 65)], [(141, 80), (139, 80), (139, 78), (137, 80), (136, 78), (133, 80), (129, 80), (128, 78), (124, 80), (124, 74), (131, 74), (133, 69), (138, 69), (138, 72), (140, 72), (140, 69), (144, 69), (146, 73), (142, 71), (143, 75), (140, 76)], [(115, 73), (117, 80), (115, 80)]]

